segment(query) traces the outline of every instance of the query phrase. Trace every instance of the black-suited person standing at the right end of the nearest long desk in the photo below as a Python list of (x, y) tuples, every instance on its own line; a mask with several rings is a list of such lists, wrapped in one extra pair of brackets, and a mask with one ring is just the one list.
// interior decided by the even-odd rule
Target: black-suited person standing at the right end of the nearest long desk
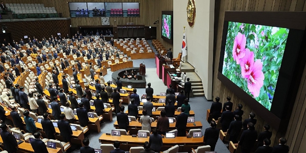
[(203, 142), (205, 145), (210, 145), (211, 151), (214, 151), (219, 138), (219, 129), (216, 128), (217, 124), (213, 120), (210, 122), (210, 125), (211, 127), (205, 129)]

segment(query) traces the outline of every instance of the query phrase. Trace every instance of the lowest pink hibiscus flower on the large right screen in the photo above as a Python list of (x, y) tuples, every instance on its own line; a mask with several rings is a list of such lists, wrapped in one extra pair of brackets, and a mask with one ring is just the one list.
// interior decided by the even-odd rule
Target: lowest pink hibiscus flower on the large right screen
[(247, 79), (247, 88), (254, 98), (259, 96), (260, 88), (264, 85), (263, 63), (258, 59), (254, 62)]

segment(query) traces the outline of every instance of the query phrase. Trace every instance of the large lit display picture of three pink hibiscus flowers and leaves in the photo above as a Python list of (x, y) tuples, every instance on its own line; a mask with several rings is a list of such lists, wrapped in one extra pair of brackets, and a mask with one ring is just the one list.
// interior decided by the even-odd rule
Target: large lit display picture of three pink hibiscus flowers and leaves
[(268, 110), (289, 29), (228, 22), (222, 74)]

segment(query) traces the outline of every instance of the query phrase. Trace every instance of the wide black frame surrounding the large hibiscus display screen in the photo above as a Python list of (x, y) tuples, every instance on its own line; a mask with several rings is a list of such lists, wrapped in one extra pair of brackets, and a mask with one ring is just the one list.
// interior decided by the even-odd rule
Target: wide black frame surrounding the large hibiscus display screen
[[(305, 46), (302, 44), (302, 42), (306, 40), (304, 36), (306, 26), (305, 17), (305, 12), (225, 11), (217, 78), (244, 101), (244, 103), (250, 107), (250, 110), (255, 113), (257, 112), (258, 116), (262, 117), (277, 131), (287, 130), (301, 75), (305, 66), (306, 60), (301, 58), (306, 56)], [(279, 70), (270, 111), (222, 74), (228, 21), (289, 29), (283, 61)], [(298, 33), (300, 41), (293, 39)], [(292, 49), (295, 55), (290, 55), (292, 54)]]

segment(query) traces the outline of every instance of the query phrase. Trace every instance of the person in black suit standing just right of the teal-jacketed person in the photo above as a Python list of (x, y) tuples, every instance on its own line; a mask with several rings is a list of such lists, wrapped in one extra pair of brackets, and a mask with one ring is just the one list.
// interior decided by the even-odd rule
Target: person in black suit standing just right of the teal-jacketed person
[(41, 120), (41, 126), (43, 132), (47, 135), (48, 139), (55, 139), (55, 128), (52, 121), (49, 120), (48, 113), (43, 113), (43, 119)]

